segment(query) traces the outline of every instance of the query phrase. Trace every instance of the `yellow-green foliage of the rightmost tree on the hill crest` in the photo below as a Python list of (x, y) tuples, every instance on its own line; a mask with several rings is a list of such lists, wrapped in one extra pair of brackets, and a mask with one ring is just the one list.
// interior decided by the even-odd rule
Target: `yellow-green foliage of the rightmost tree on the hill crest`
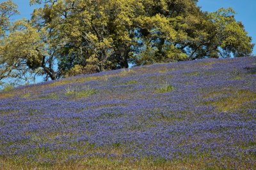
[(243, 24), (235, 20), (235, 13), (232, 8), (221, 8), (207, 15), (216, 28), (213, 33), (218, 38), (212, 39), (215, 40), (212, 44), (216, 43), (215, 50), (222, 57), (230, 57), (230, 53), (234, 57), (244, 57), (252, 53), (252, 38), (247, 36)]

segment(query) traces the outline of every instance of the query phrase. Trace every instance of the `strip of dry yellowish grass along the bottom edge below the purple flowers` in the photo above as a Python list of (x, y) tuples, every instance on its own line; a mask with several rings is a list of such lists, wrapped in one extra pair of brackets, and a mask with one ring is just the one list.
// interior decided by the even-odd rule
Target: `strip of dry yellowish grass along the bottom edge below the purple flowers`
[(227, 159), (225, 164), (218, 164), (216, 160), (209, 157), (195, 157), (182, 160), (165, 160), (144, 158), (141, 160), (129, 159), (107, 159), (104, 157), (88, 157), (76, 162), (67, 162), (64, 164), (56, 163), (52, 166), (44, 165), (20, 165), (14, 162), (8, 162), (8, 159), (0, 159), (0, 169), (253, 169), (256, 164), (247, 164), (246, 161), (232, 165), (234, 160)]

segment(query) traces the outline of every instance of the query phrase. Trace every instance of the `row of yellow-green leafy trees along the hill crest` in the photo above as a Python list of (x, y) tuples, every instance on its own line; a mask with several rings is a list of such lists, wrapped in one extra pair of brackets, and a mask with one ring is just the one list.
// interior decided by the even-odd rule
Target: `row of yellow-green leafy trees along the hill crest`
[(0, 85), (203, 58), (245, 57), (252, 38), (232, 8), (195, 0), (30, 0), (29, 20), (0, 3)]

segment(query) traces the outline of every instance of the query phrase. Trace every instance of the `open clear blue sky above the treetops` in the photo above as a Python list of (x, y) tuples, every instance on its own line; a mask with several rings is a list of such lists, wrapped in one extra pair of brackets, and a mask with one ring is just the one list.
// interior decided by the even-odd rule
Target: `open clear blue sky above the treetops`
[[(4, 0), (0, 0), (3, 2)], [(19, 6), (20, 15), (17, 18), (30, 18), (33, 8), (29, 6), (29, 0), (13, 0)], [(204, 11), (216, 11), (221, 7), (232, 7), (237, 12), (236, 19), (243, 22), (249, 36), (252, 36), (253, 43), (256, 43), (256, 0), (199, 0), (198, 6)], [(253, 54), (256, 55), (256, 47)]]

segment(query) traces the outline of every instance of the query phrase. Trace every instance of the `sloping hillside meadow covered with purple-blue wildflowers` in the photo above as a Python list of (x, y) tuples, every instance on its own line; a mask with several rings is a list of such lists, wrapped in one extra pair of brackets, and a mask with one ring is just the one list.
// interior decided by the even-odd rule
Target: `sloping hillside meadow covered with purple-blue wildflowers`
[(256, 169), (256, 57), (0, 92), (0, 169)]

